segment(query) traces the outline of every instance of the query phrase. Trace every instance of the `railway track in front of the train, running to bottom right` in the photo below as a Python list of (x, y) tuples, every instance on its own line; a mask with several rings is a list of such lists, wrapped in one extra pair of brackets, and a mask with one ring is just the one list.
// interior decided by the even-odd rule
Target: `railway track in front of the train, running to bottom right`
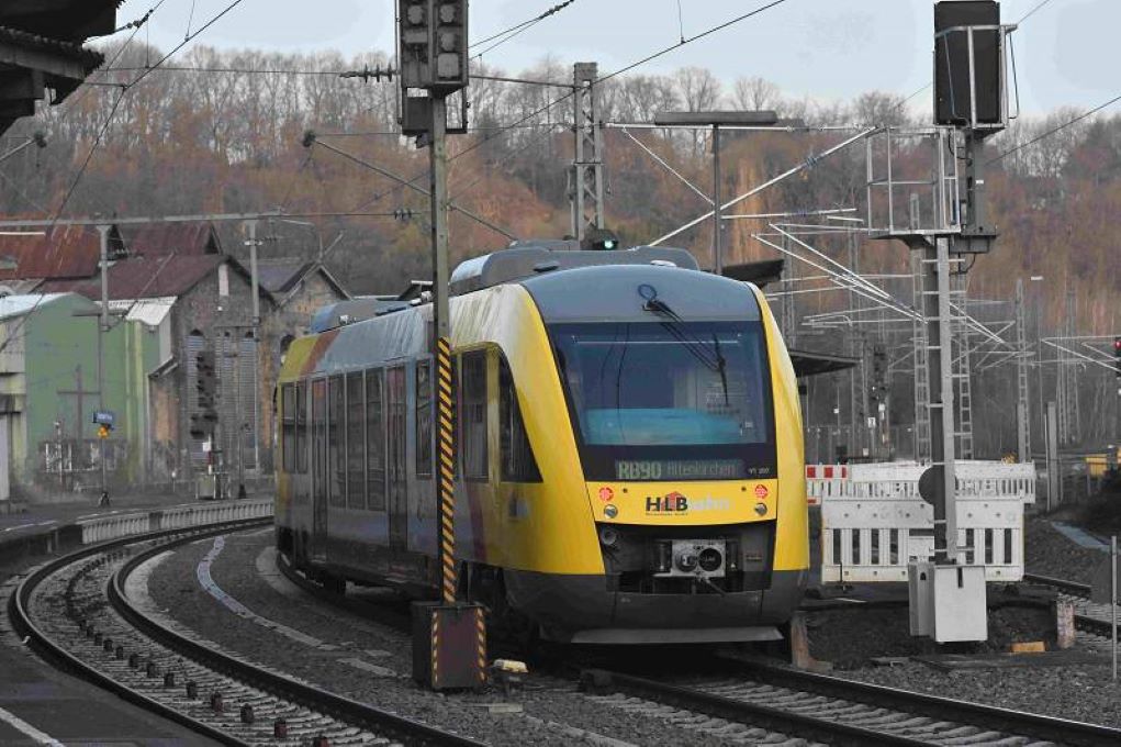
[[(729, 660), (726, 674), (667, 683), (604, 670), (583, 674), (604, 704), (669, 706), (720, 722), (831, 745), (1121, 744), (1121, 729)], [(753, 743), (750, 743), (753, 744)]]

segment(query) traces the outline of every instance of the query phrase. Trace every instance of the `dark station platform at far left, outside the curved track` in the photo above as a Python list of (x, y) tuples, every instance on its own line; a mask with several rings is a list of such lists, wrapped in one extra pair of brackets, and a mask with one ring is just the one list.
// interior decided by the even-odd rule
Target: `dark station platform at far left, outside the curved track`
[[(207, 501), (209, 502), (209, 501)], [(220, 501), (226, 502), (226, 501)], [(48, 554), (81, 540), (87, 519), (196, 505), (183, 496), (121, 496), (99, 508), (93, 500), (29, 505), (0, 514), (0, 603), (7, 605), (17, 575)], [(77, 540), (77, 542), (75, 541)], [(59, 672), (21, 648), (0, 615), (0, 745), (129, 745), (195, 747), (216, 743), (148, 713), (83, 680)]]

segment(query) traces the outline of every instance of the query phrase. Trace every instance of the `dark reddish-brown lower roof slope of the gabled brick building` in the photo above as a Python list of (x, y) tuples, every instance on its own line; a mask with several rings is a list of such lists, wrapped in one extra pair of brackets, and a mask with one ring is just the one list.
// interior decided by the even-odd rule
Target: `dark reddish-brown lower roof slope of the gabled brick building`
[[(109, 297), (118, 301), (182, 296), (223, 262), (237, 266), (237, 262), (223, 255), (130, 257), (109, 268)], [(240, 267), (238, 269), (241, 271)], [(43, 284), (41, 289), (70, 290), (93, 299), (101, 297), (101, 282), (96, 277), (48, 280)]]

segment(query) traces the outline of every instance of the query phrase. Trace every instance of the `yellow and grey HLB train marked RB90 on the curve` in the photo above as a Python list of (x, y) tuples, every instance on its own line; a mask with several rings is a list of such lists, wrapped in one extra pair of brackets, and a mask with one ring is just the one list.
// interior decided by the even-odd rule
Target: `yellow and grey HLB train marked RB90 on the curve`
[[(452, 292), (461, 592), (554, 640), (777, 638), (809, 555), (762, 294), (684, 250), (563, 242), (464, 262)], [(332, 315), (281, 371), (278, 546), (434, 593), (432, 306)]]

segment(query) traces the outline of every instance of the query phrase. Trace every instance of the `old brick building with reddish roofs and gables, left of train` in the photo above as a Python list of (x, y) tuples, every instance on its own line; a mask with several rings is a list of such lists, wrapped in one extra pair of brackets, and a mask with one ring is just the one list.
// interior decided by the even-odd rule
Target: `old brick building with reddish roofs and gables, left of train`
[[(8, 239), (0, 237), (0, 255), (11, 253), (17, 262), (15, 269), (0, 270), (0, 295), (4, 285), (18, 285), (24, 292), (100, 299), (96, 231), (55, 232), (29, 243), (27, 237)], [(212, 225), (113, 229), (110, 257), (114, 319), (145, 331), (146, 363), (139, 374), (145, 386), (131, 407), (142, 411), (143, 418), (129, 452), (137, 462), (130, 479), (186, 487), (210, 459), (204, 443), (211, 432), (228, 472), (270, 473), (271, 395), (281, 356), (317, 308), (348, 297), (345, 289), (318, 262), (262, 259), (261, 325), (254, 340), (249, 269), (223, 252)], [(200, 353), (214, 358), (213, 426), (200, 421)]]

